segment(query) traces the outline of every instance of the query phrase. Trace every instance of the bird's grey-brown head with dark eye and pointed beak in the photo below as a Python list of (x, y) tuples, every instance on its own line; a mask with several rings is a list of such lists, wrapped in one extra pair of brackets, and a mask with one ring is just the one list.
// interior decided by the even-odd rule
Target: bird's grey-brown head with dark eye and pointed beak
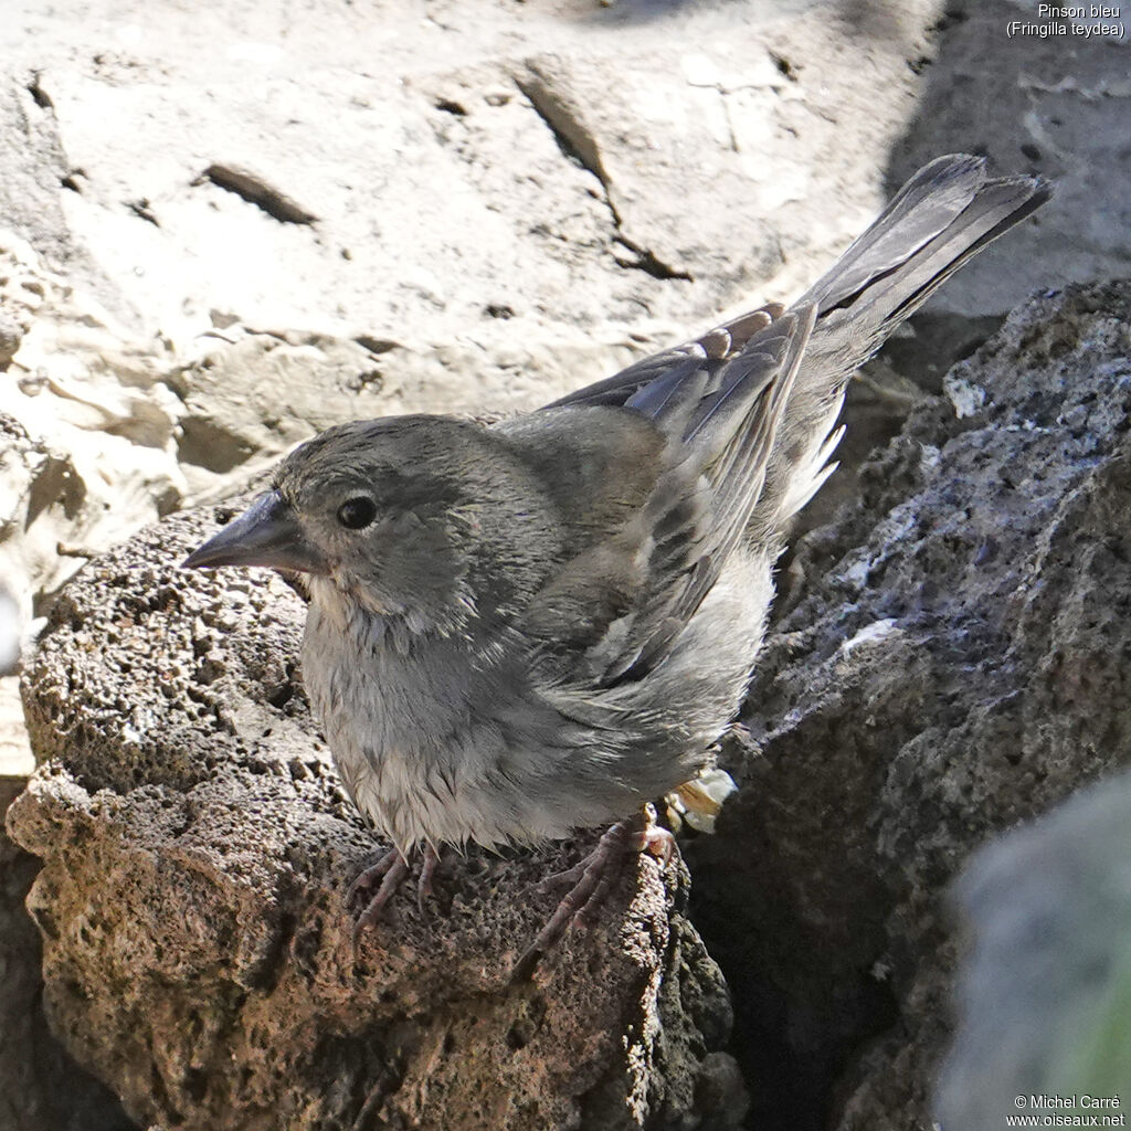
[(493, 448), (486, 430), (450, 417), (331, 428), (287, 456), (271, 489), (184, 566), (299, 570), (316, 602), (454, 630), (484, 599), (506, 599), (508, 559), (525, 556), (510, 506), (521, 491)]

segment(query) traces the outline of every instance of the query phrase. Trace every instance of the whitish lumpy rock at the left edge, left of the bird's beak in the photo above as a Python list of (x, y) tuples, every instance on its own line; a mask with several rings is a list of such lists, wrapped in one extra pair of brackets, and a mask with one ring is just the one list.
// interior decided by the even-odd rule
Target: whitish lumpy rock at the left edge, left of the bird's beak
[(26, 623), (87, 558), (172, 510), (184, 480), (158, 356), (37, 262), (21, 270), (41, 301), (0, 374), (0, 577)]

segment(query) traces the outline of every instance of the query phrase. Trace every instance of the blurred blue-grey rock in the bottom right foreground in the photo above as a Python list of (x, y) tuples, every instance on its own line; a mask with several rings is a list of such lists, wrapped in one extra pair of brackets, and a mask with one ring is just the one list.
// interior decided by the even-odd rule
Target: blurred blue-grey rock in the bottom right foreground
[(1068, 1106), (1055, 1114), (1081, 1121), (1123, 1114), (1129, 811), (1123, 774), (999, 838), (964, 871), (955, 896), (973, 951), (959, 967), (958, 1028), (936, 1089), (947, 1131), (1004, 1126), (1019, 1110), (1047, 1115), (1033, 1096), (1057, 1097)]

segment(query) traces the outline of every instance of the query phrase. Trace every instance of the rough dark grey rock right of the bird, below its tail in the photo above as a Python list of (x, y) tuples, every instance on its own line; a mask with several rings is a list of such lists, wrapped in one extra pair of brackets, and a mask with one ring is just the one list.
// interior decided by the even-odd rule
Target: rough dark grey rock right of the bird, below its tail
[(930, 1126), (948, 880), (1126, 761), (1129, 325), (1126, 283), (1016, 311), (796, 550), (687, 849), (759, 1131)]

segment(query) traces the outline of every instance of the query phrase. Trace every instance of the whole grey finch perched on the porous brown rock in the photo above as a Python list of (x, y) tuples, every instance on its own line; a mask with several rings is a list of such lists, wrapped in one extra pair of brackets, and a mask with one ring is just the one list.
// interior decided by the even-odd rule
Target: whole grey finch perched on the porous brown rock
[[(527, 950), (592, 920), (649, 800), (736, 714), (791, 517), (831, 473), (853, 372), (1050, 196), (940, 157), (788, 310), (767, 305), (538, 412), (360, 421), (295, 449), (185, 566), (307, 575), (302, 671), (342, 779), (394, 847), (351, 889), (377, 921), (423, 849), (615, 822)], [(355, 935), (356, 938), (356, 935)]]

